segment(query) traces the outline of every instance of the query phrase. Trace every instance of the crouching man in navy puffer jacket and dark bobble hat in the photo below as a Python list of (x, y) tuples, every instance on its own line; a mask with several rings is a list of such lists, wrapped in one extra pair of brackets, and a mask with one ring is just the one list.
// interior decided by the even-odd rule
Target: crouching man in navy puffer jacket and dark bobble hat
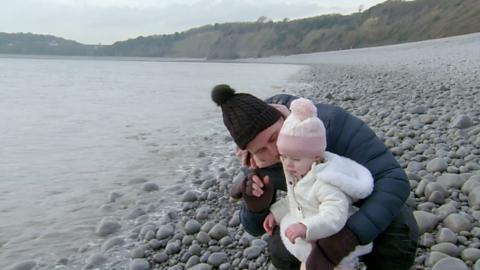
[[(254, 236), (265, 233), (263, 221), (275, 202), (275, 189), (286, 190), (276, 139), (294, 99), (277, 95), (264, 102), (249, 94), (237, 94), (228, 85), (217, 85), (212, 91), (212, 100), (222, 108), (224, 124), (239, 148), (237, 153), (251, 170), (230, 194), (243, 197), (240, 220)], [(332, 270), (356, 246), (372, 241), (373, 251), (362, 257), (367, 269), (410, 269), (419, 231), (412, 211), (405, 205), (410, 194), (405, 172), (360, 119), (336, 106), (316, 107), (326, 128), (326, 151), (365, 166), (372, 173), (375, 187), (369, 197), (355, 203), (359, 211), (340, 232), (313, 244), (307, 269)], [(300, 262), (285, 249), (278, 226), (269, 238), (268, 251), (276, 268), (299, 269)]]

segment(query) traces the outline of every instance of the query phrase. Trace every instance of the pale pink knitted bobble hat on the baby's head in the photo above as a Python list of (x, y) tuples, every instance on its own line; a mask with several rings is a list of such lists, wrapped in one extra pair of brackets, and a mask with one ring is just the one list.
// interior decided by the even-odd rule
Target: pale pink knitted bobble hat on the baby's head
[(290, 105), (292, 114), (285, 120), (277, 139), (278, 151), (289, 157), (321, 157), (327, 147), (325, 126), (317, 117), (317, 107), (299, 98)]

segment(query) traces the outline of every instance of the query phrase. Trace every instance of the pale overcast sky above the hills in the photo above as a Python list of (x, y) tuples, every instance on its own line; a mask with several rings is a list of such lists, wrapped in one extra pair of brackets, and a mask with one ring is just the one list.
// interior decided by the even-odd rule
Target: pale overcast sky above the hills
[(351, 14), (385, 0), (0, 0), (0, 32), (54, 35), (84, 44), (182, 32), (225, 22)]

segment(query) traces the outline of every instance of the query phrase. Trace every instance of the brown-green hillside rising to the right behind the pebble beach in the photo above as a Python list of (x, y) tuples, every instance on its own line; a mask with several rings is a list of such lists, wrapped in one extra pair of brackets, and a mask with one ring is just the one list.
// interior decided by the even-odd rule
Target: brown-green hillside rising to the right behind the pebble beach
[(206, 25), (116, 42), (97, 55), (234, 59), (405, 43), (480, 31), (478, 0), (389, 0), (364, 12)]

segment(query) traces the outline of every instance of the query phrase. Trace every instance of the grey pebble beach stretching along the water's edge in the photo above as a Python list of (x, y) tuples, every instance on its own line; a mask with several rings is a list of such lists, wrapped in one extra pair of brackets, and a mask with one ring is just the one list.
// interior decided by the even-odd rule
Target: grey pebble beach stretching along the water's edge
[[(480, 270), (478, 48), (480, 34), (472, 34), (244, 61), (308, 65), (295, 87), (279, 93), (340, 106), (390, 148), (410, 180), (407, 204), (421, 233), (413, 269)], [(241, 164), (220, 111), (216, 125), (199, 143), (204, 149), (195, 166), (172, 179), (170, 192), (181, 202), (169, 211), (158, 212), (155, 203), (126, 203), (128, 196), (112, 191), (99, 208), (122, 206), (125, 215), (99, 221), (95, 233), (102, 241), (54, 264), (25, 260), (10, 269), (275, 269), (268, 235), (253, 237), (240, 224), (241, 202), (228, 190), (243, 178)], [(159, 190), (144, 178), (125, 184), (138, 192)]]

